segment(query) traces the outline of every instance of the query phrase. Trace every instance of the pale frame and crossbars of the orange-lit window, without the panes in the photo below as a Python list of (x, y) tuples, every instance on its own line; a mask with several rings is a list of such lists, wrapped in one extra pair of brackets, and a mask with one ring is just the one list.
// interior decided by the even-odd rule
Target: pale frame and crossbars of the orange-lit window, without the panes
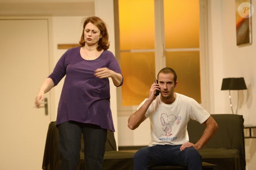
[[(116, 58), (120, 63), (120, 40), (119, 40), (119, 13), (118, 1), (114, 0), (115, 16), (115, 45)], [(165, 52), (165, 34), (164, 34), (164, 12), (163, 0), (154, 0), (154, 17), (155, 17), (155, 49), (152, 50), (130, 50), (130, 52), (155, 52), (155, 70), (158, 73), (163, 67), (166, 67)], [(208, 112), (210, 111), (210, 84), (209, 84), (209, 59), (208, 59), (208, 26), (207, 26), (207, 1), (199, 0), (200, 10), (200, 82), (201, 82), (201, 103), (200, 105)], [(186, 49), (184, 49), (186, 50)], [(194, 49), (195, 50), (195, 49)], [(127, 51), (126, 51), (127, 52)], [(124, 80), (125, 81), (125, 80)], [(138, 106), (122, 106), (122, 91), (117, 88), (117, 115), (129, 116), (137, 110)]]

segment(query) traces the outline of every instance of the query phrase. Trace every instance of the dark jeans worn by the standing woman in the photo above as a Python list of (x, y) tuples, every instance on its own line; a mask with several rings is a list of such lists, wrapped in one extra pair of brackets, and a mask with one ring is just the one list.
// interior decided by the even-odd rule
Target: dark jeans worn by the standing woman
[(74, 121), (58, 125), (60, 170), (77, 170), (81, 135), (84, 138), (84, 158), (87, 170), (102, 170), (107, 130), (97, 125)]

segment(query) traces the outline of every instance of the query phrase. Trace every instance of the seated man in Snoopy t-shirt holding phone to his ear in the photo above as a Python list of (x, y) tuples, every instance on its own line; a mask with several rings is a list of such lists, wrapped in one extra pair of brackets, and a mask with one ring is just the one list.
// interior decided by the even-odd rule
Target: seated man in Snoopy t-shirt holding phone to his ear
[[(136, 129), (146, 118), (151, 122), (151, 142), (134, 155), (134, 170), (147, 170), (153, 165), (188, 166), (188, 170), (202, 170), (200, 148), (211, 138), (218, 125), (196, 100), (174, 92), (177, 74), (166, 67), (158, 73), (158, 83), (151, 85), (145, 99), (128, 119), (128, 127)], [(155, 93), (160, 90), (160, 95)], [(192, 144), (187, 124), (194, 119), (206, 126), (200, 140)]]

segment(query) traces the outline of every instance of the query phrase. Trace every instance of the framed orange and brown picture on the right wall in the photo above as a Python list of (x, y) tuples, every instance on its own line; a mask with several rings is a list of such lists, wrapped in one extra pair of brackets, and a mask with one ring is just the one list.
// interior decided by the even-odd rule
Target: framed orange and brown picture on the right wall
[(252, 44), (252, 14), (254, 8), (251, 0), (235, 0), (237, 46)]

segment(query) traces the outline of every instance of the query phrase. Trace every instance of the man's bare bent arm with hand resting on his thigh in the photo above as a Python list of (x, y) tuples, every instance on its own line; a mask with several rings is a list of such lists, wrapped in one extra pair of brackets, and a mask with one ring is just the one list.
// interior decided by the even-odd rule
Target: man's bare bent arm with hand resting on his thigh
[(182, 144), (181, 151), (189, 147), (193, 147), (199, 150), (200, 148), (203, 147), (204, 144), (208, 142), (208, 140), (210, 140), (210, 138), (218, 129), (217, 122), (215, 122), (214, 118), (212, 118), (211, 116), (205, 122), (203, 122), (203, 124), (206, 126), (206, 128), (203, 131), (202, 137), (196, 142), (196, 144), (192, 144), (190, 142)]

